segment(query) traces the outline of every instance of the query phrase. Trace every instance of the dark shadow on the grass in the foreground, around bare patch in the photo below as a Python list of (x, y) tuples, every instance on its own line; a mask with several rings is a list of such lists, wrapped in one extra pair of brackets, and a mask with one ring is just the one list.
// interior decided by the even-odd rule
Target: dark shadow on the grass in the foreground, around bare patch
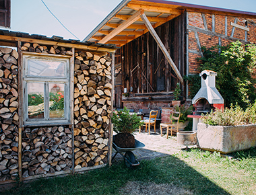
[(20, 188), (13, 188), (4, 194), (119, 194), (119, 190), (129, 181), (174, 184), (193, 194), (228, 194), (172, 155), (143, 160), (135, 169), (128, 169), (123, 161), (118, 161), (111, 167), (84, 174), (40, 179), (22, 184)]

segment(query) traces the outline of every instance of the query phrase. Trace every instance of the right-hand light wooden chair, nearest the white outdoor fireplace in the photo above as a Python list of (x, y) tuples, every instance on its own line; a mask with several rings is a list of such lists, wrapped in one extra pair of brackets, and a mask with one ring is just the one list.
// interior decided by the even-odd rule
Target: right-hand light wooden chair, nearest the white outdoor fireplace
[[(172, 112), (172, 117), (170, 122), (164, 122), (160, 124), (161, 137), (162, 137), (162, 128), (166, 128), (166, 139), (168, 139), (169, 130), (170, 130), (171, 136), (172, 136), (172, 132), (179, 132), (180, 116), (181, 116), (180, 112)], [(177, 121), (177, 123), (173, 124), (174, 120)]]

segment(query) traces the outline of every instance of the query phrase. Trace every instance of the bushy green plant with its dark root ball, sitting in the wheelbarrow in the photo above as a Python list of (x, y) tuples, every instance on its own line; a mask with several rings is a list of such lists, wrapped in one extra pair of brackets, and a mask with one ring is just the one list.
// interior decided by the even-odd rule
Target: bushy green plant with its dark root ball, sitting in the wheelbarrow
[(121, 148), (135, 147), (135, 138), (132, 133), (143, 124), (140, 122), (141, 118), (136, 114), (129, 114), (129, 110), (125, 107), (117, 114), (114, 112), (111, 119), (114, 131), (117, 132), (113, 142)]

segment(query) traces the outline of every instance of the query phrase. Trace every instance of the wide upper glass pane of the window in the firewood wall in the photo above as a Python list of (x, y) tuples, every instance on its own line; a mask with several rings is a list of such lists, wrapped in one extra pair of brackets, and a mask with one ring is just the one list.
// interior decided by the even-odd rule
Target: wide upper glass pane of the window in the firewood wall
[(65, 63), (29, 59), (28, 76), (65, 77)]

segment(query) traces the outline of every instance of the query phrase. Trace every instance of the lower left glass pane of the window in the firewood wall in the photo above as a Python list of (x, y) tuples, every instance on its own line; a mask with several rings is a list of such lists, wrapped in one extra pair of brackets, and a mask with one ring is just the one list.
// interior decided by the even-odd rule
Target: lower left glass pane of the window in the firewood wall
[(28, 118), (44, 118), (44, 83), (28, 82)]

